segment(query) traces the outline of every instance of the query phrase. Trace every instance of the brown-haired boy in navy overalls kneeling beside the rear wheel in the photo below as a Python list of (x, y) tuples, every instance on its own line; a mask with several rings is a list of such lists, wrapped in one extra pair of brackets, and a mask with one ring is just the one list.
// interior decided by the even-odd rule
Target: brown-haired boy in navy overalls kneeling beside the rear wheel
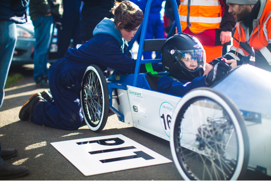
[[(124, 40), (131, 41), (143, 21), (143, 12), (134, 3), (125, 0), (112, 8), (114, 19), (103, 19), (94, 29), (94, 37), (85, 44), (68, 49), (63, 59), (49, 69), (49, 87), (52, 97), (45, 91), (33, 94), (22, 106), (19, 118), (36, 124), (64, 130), (82, 126), (80, 90), (84, 72), (90, 64), (106, 67), (121, 73), (135, 72), (136, 60), (123, 53)], [(164, 71), (154, 64), (156, 71)], [(140, 72), (146, 72), (141, 65)], [(47, 98), (46, 98), (47, 97)], [(47, 100), (45, 100), (47, 99)]]

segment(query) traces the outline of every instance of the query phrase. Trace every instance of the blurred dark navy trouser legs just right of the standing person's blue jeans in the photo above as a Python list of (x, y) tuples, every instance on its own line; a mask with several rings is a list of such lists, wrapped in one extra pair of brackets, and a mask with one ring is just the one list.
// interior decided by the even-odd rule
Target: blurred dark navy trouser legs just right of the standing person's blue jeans
[[(68, 48), (82, 44), (80, 35), (81, 4), (80, 0), (63, 0), (63, 16), (58, 26), (58, 58), (65, 56)], [(72, 44), (71, 44), (72, 40)]]

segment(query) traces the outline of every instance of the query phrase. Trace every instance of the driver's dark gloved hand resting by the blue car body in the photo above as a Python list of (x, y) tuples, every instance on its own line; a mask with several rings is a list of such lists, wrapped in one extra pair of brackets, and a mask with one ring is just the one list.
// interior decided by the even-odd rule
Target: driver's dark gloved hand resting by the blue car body
[(231, 70), (231, 66), (229, 66), (225, 61), (220, 61), (219, 63), (213, 66), (213, 69), (206, 75), (205, 81), (207, 85), (211, 86), (216, 81), (220, 80)]

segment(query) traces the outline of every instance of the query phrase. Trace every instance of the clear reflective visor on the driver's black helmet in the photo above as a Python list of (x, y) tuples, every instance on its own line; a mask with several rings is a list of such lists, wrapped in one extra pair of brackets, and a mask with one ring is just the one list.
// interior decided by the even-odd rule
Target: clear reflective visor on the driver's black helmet
[(176, 60), (179, 62), (183, 61), (196, 61), (197, 67), (201, 66), (205, 70), (205, 63), (206, 63), (206, 54), (205, 50), (198, 49), (198, 50), (186, 50), (186, 51), (180, 51), (176, 49), (170, 50), (170, 54), (174, 56)]

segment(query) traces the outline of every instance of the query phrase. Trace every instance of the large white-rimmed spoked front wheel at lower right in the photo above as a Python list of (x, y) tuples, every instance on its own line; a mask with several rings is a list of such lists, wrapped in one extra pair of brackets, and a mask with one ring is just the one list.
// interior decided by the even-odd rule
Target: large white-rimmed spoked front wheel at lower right
[(185, 180), (237, 180), (247, 169), (249, 140), (239, 109), (222, 93), (195, 89), (177, 104), (170, 148)]

